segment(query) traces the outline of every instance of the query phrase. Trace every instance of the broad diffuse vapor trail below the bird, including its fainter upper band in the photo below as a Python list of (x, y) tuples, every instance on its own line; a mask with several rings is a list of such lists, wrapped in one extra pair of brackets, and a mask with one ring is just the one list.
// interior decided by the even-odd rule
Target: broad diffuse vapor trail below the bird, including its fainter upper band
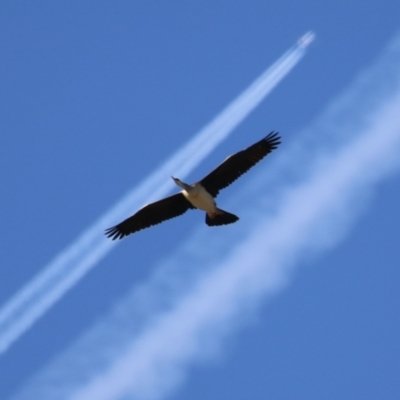
[[(188, 256), (190, 269), (205, 269), (192, 281), (184, 277), (181, 286), (189, 286), (188, 290), (170, 295), (172, 304), (169, 301), (163, 310), (151, 310), (142, 330), (132, 333), (127, 321), (140, 304), (137, 300), (140, 296), (142, 300), (152, 296), (157, 300), (160, 276), (145, 287), (135, 288), (111, 317), (14, 399), (154, 400), (168, 395), (183, 380), (191, 362), (218, 348), (247, 314), (243, 311), (284, 286), (301, 256), (337, 243), (359, 211), (354, 208), (354, 199), (398, 170), (399, 71), (400, 38), (293, 148), (286, 154), (281, 152), (272, 173), (279, 179), (287, 178), (288, 171), (297, 171), (301, 161), (306, 172), (296, 176), (295, 184), (296, 174), (292, 174), (288, 179), (291, 183), (271, 194), (265, 173), (253, 182), (251, 190), (258, 191), (258, 200), (251, 204), (249, 199), (247, 207), (253, 208), (256, 216), (253, 218), (251, 212), (244, 215), (240, 229), (232, 230), (236, 232), (232, 237), (224, 237), (228, 250), (218, 251), (221, 246), (217, 245), (209, 251), (210, 232), (202, 235), (205, 229), (201, 228), (200, 234), (173, 255), (174, 277), (177, 271), (185, 272)], [(306, 159), (302, 152), (306, 152)], [(262, 192), (265, 187), (268, 192)], [(208, 253), (201, 258), (196, 248)], [(221, 253), (223, 258), (216, 259)], [(161, 273), (161, 280), (174, 286), (168, 265), (163, 267), (167, 273)], [(115, 347), (122, 341), (123, 348)], [(105, 355), (99, 358), (99, 354)]]

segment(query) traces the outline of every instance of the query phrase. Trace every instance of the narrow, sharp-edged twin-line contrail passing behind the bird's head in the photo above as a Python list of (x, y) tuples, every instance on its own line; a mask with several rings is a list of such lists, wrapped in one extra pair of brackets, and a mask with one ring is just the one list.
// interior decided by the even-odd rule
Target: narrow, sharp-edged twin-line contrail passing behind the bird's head
[(104, 229), (145, 202), (166, 195), (172, 185), (166, 182), (165, 177), (185, 177), (193, 170), (295, 67), (305, 54), (307, 45), (308, 42), (300, 39), (192, 140), (100, 217), (3, 305), (0, 309), (0, 353), (5, 352), (115, 246), (114, 242), (105, 240)]

